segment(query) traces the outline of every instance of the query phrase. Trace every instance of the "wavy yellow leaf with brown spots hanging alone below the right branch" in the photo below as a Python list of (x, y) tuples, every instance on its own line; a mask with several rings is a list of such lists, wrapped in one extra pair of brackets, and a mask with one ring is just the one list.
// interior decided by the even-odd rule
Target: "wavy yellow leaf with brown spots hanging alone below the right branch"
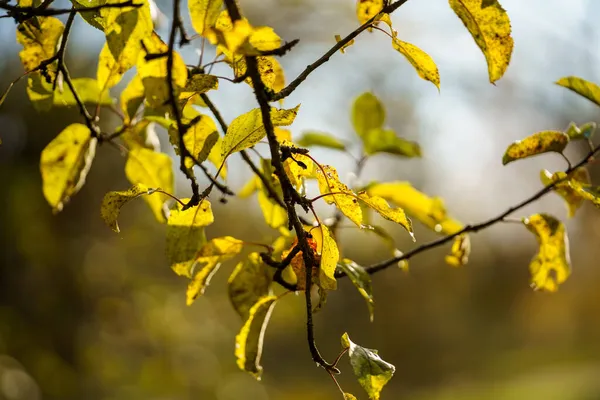
[(525, 227), (535, 234), (540, 249), (531, 260), (531, 287), (534, 290), (555, 292), (558, 285), (571, 274), (569, 241), (565, 226), (547, 214), (534, 214), (523, 218)]

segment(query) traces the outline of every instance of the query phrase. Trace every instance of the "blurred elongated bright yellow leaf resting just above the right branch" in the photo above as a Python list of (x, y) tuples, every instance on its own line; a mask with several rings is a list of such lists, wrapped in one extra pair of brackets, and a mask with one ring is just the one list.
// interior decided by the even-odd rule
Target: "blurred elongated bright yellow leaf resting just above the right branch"
[(367, 188), (367, 193), (396, 204), (437, 233), (451, 235), (463, 228), (447, 214), (442, 199), (427, 196), (409, 182), (378, 183)]

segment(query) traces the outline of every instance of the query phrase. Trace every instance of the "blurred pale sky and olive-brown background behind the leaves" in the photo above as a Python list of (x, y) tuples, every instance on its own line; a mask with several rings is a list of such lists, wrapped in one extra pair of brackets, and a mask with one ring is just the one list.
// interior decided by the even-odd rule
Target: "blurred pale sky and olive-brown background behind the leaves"
[[(165, 37), (171, 3), (157, 3), (166, 14), (159, 29)], [(281, 60), (288, 80), (330, 48), (335, 34), (344, 36), (357, 26), (353, 0), (240, 3), (254, 25), (301, 40)], [(388, 37), (363, 34), (286, 99), (288, 107), (302, 103), (293, 135), (330, 132), (352, 143), (358, 154), (350, 106), (356, 96), (372, 91), (387, 107), (387, 125), (417, 140), (424, 155), (377, 155), (367, 162), (362, 182), (410, 180), (443, 197), (464, 223), (492, 217), (534, 193), (539, 170), (562, 170), (564, 160), (550, 154), (503, 167), (502, 154), (533, 132), (600, 119), (597, 107), (553, 84), (566, 75), (600, 82), (600, 3), (501, 3), (512, 20), (515, 50), (496, 86), (488, 83), (482, 54), (447, 2), (413, 0), (393, 15), (394, 27), (401, 39), (437, 62), (441, 92), (418, 78)], [(82, 20), (74, 29), (67, 65), (73, 76), (94, 77), (102, 34)], [(196, 63), (199, 47), (196, 40), (182, 51), (189, 63)], [(23, 72), (19, 49), (15, 24), (0, 20), (2, 89)], [(206, 60), (212, 52), (207, 50)], [(223, 67), (213, 73), (230, 75)], [(222, 81), (211, 97), (227, 121), (256, 107), (246, 85)], [(127, 205), (120, 234), (104, 225), (99, 215), (104, 193), (129, 186), (125, 159), (111, 146), (98, 149), (86, 185), (52, 215), (41, 191), (40, 152), (64, 126), (79, 120), (76, 109), (36, 113), (25, 80), (0, 108), (0, 399), (340, 398), (311, 360), (302, 296), (286, 296), (277, 305), (266, 332), (263, 379), (256, 382), (238, 370), (233, 356), (242, 322), (229, 304), (226, 282), (235, 260), (187, 307), (187, 281), (172, 273), (164, 256), (165, 227), (144, 202)], [(106, 129), (118, 124), (111, 114), (103, 121)], [(264, 145), (257, 149), (267, 151)], [(576, 162), (585, 152), (574, 144), (568, 155)], [(335, 165), (343, 179), (354, 169), (346, 154), (314, 150), (313, 155)], [(229, 168), (229, 184), (239, 190), (251, 174), (238, 157)], [(600, 183), (598, 166), (590, 172)], [(188, 191), (179, 176), (177, 194)], [(276, 237), (255, 199), (213, 204), (216, 223), (208, 228), (209, 237), (229, 234), (265, 243)], [(340, 282), (315, 315), (321, 352), (333, 359), (344, 332), (379, 349), (396, 366), (384, 399), (600, 399), (600, 212), (585, 204), (567, 220), (562, 200), (551, 194), (514, 216), (541, 211), (565, 220), (570, 237), (573, 275), (556, 294), (529, 288), (535, 238), (518, 224), (496, 225), (472, 236), (466, 267), (446, 265), (448, 249), (441, 248), (412, 260), (409, 273), (390, 268), (375, 275), (373, 323), (355, 289)], [(400, 228), (386, 226), (400, 249), (415, 246)], [(436, 237), (421, 226), (416, 236), (416, 245)], [(344, 256), (362, 265), (389, 257), (376, 237), (354, 229), (342, 230), (341, 246)], [(347, 359), (340, 365), (342, 387), (366, 398)]]

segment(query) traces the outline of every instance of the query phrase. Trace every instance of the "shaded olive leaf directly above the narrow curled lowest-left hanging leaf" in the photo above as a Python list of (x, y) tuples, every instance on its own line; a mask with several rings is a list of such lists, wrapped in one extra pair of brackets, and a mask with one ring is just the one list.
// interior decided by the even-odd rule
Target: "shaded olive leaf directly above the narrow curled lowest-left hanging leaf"
[(251, 253), (241, 261), (229, 277), (229, 300), (233, 308), (246, 321), (256, 302), (271, 294), (271, 274), (258, 253)]

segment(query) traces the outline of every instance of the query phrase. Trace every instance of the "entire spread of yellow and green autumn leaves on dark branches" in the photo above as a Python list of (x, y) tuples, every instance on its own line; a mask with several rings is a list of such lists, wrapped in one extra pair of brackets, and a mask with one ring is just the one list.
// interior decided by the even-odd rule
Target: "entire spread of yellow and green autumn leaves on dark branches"
[[(144, 198), (156, 220), (167, 225), (167, 256), (173, 271), (189, 280), (188, 305), (204, 293), (224, 262), (248, 246), (265, 249), (244, 257), (228, 282), (231, 303), (242, 319), (235, 340), (235, 357), (241, 369), (260, 378), (263, 337), (269, 317), (285, 294), (301, 291), (306, 294), (313, 359), (334, 378), (339, 359), (348, 352), (359, 383), (370, 398), (378, 399), (394, 373), (393, 365), (383, 361), (375, 350), (354, 344), (347, 334), (342, 337), (340, 356), (334, 363), (327, 363), (312, 339), (311, 315), (324, 306), (327, 294), (337, 288), (337, 279), (350, 278), (365, 299), (372, 320), (373, 273), (394, 264), (406, 270), (410, 257), (450, 241), (453, 244), (446, 262), (454, 267), (465, 265), (471, 251), (469, 233), (505, 221), (509, 214), (550, 191), (566, 200), (570, 216), (585, 200), (600, 206), (600, 189), (591, 185), (584, 169), (597, 152), (591, 141), (593, 123), (572, 124), (566, 132), (536, 133), (509, 146), (504, 164), (545, 152), (563, 154), (565, 147), (575, 140), (587, 140), (590, 153), (575, 166), (569, 162), (565, 172), (542, 171), (544, 188), (534, 196), (498, 217), (467, 226), (449, 215), (442, 199), (419, 191), (409, 182), (372, 182), (364, 187), (343, 183), (333, 166), (319, 163), (308, 150), (320, 146), (350, 154), (348, 145), (331, 134), (310, 131), (293, 140), (291, 131), (282, 127), (294, 122), (300, 105), (276, 108), (270, 103), (277, 100), (282, 103), (314, 69), (338, 50), (345, 52), (364, 31), (380, 31), (389, 36), (392, 47), (406, 57), (418, 75), (439, 89), (440, 76), (432, 58), (415, 45), (400, 40), (392, 28), (390, 13), (406, 1), (358, 0), (360, 26), (344, 38), (336, 35), (331, 50), (287, 86), (276, 57), (285, 55), (297, 41), (284, 43), (272, 28), (251, 25), (233, 0), (188, 0), (196, 32), (192, 38), (187, 36), (181, 22), (180, 1), (173, 0), (173, 21), (167, 42), (154, 31), (149, 0), (72, 0), (73, 7), (67, 10), (52, 9), (52, 1), (20, 0), (16, 6), (0, 3), (0, 9), (18, 22), (17, 41), (23, 47), (20, 57), (33, 106), (41, 112), (76, 107), (83, 119), (83, 123), (65, 127), (43, 150), (40, 169), (44, 196), (52, 209), (59, 212), (84, 184), (99, 144), (118, 148), (127, 157), (125, 176), (131, 188), (106, 194), (101, 216), (112, 230), (119, 232), (117, 219), (122, 207), (138, 197)], [(503, 76), (512, 54), (508, 15), (496, 0), (450, 0), (449, 4), (483, 52), (489, 80), (494, 83)], [(62, 14), (68, 14), (66, 24), (57, 18)], [(72, 78), (64, 63), (67, 39), (77, 16), (106, 36), (95, 78)], [(381, 28), (382, 22), (389, 32)], [(204, 42), (211, 43), (215, 59), (206, 64), (200, 60), (189, 67), (176, 51), (177, 37), (179, 46), (194, 38), (202, 41), (203, 48)], [(232, 78), (210, 74), (211, 66), (217, 62), (231, 67)], [(135, 69), (135, 74), (115, 103), (111, 90), (131, 69)], [(258, 108), (238, 116), (229, 125), (209, 98), (210, 91), (218, 90), (223, 79), (250, 85), (259, 103)], [(558, 84), (600, 105), (598, 86), (576, 77), (563, 78)], [(8, 91), (0, 104), (7, 94)], [(90, 106), (95, 108), (94, 113), (90, 112)], [(121, 126), (112, 132), (104, 132), (99, 126), (103, 108), (121, 117)], [(208, 108), (214, 119), (201, 112), (202, 108)], [(422, 154), (419, 144), (400, 137), (386, 125), (385, 114), (384, 105), (372, 93), (354, 100), (351, 120), (361, 143), (357, 172), (368, 159), (380, 153), (408, 158)], [(160, 149), (156, 125), (166, 131), (179, 156), (180, 170), (190, 180), (189, 198), (175, 193), (173, 163)], [(260, 156), (256, 165), (246, 151), (253, 150), (265, 138), (271, 158)], [(233, 195), (226, 184), (226, 161), (236, 153), (255, 174), (238, 195), (256, 194), (265, 222), (277, 232), (272, 243), (250, 243), (231, 236), (207, 238), (207, 227), (215, 220), (208, 197), (215, 188), (223, 196)], [(206, 162), (213, 165), (215, 174), (205, 166)], [(197, 170), (211, 182), (202, 192), (195, 176)], [(306, 189), (308, 180), (318, 183), (319, 193), (312, 198)], [(315, 212), (314, 203), (319, 200), (335, 206), (332, 223)], [(296, 205), (314, 220), (299, 217)], [(373, 219), (374, 213), (401, 225), (413, 239), (413, 220), (442, 238), (403, 254), (385, 225), (379, 224), (380, 219)], [(370, 267), (345, 258), (336, 240), (337, 228), (344, 217), (358, 229), (380, 237), (389, 246), (392, 258)], [(564, 225), (546, 214), (523, 218), (522, 224), (536, 235), (540, 245), (530, 264), (532, 286), (557, 290), (571, 271)], [(319, 293), (315, 307), (311, 304), (313, 288)], [(355, 398), (341, 392), (344, 398)]]

